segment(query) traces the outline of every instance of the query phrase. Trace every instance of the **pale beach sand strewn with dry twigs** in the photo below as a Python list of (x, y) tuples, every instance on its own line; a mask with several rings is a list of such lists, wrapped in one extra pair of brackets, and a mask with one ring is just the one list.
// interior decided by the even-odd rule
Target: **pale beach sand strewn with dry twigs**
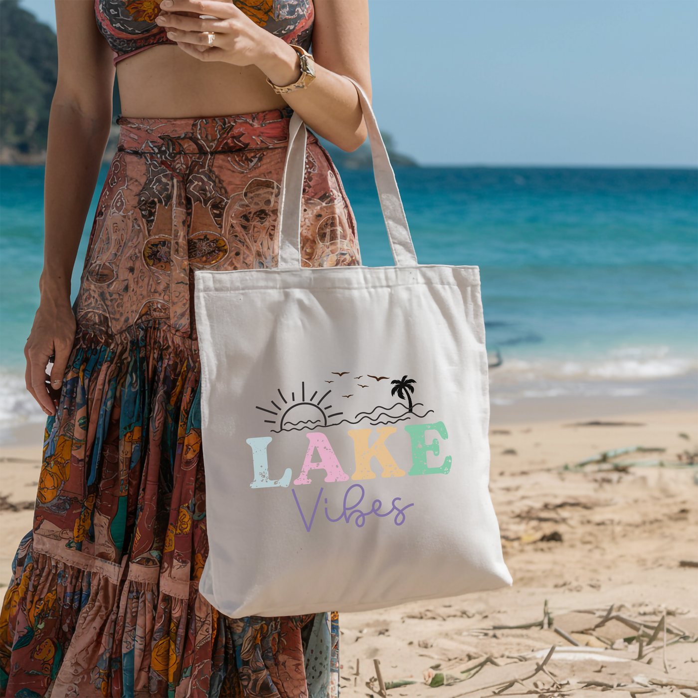
[[(674, 467), (690, 462), (690, 454), (695, 460), (698, 413), (628, 413), (579, 426), (596, 417), (492, 426), (490, 489), (514, 585), (341, 614), (343, 695), (378, 695), (377, 682), (366, 687), (376, 676), (374, 659), (380, 660), (385, 681), (417, 681), (389, 690), (391, 696), (492, 695), (536, 671), (542, 656), (531, 653), (544, 655), (553, 644), (573, 647), (549, 628), (493, 629), (542, 621), (547, 601), (549, 625), (566, 629), (584, 650), (557, 651), (544, 671), (514, 683), (503, 695), (604, 692), (608, 698), (627, 698), (676, 692), (698, 697), (698, 568), (681, 566), (698, 563), (698, 466)], [(606, 463), (562, 469), (607, 450), (636, 446), (662, 450), (620, 456), (616, 462), (625, 465), (615, 470)], [(32, 502), (39, 463), (37, 445), (0, 447), (0, 494), (10, 495), (10, 503)], [(2, 581), (31, 517), (31, 509), (0, 511)], [(637, 631), (617, 620), (597, 628), (597, 637), (584, 632), (611, 604), (614, 614), (639, 621), (650, 632), (666, 613), (673, 628), (666, 651), (660, 631), (638, 661), (637, 640), (628, 641)], [(682, 632), (684, 641), (671, 644)], [(488, 663), (461, 673), (488, 656), (500, 666)], [(446, 683), (459, 681), (431, 688), (424, 683), (425, 671), (437, 675), (436, 683), (438, 674)], [(663, 685), (667, 681), (673, 684)]]

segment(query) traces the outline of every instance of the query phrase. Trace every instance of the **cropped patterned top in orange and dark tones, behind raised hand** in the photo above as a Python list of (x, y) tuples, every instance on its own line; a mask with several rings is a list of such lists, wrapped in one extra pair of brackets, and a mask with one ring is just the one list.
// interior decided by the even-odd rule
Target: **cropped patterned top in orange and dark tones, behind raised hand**
[[(233, 0), (255, 24), (285, 42), (310, 50), (313, 0)], [(94, 0), (99, 31), (116, 54), (114, 64), (151, 46), (173, 44), (155, 23), (160, 0)]]

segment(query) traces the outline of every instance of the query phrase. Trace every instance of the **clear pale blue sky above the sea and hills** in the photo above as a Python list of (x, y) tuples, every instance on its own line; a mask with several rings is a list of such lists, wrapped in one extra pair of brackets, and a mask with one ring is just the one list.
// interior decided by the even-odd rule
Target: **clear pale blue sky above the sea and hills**
[[(22, 0), (52, 26), (53, 4)], [(698, 165), (695, 0), (370, 0), (370, 11), (378, 123), (419, 163)]]

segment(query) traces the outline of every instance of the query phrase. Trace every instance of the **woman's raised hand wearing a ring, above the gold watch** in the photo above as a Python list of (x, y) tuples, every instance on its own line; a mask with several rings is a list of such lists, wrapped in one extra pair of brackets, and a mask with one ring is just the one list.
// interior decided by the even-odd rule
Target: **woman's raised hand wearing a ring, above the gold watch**
[[(292, 84), (300, 77), (297, 53), (232, 2), (162, 0), (160, 7), (156, 23), (167, 29), (168, 38), (181, 50), (200, 61), (258, 66), (274, 84)], [(218, 19), (200, 19), (198, 15)]]

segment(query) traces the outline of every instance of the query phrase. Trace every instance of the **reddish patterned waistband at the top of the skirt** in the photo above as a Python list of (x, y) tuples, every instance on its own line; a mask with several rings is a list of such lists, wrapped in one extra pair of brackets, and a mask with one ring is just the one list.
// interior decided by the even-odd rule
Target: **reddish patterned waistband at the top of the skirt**
[(174, 155), (209, 155), (288, 144), (290, 107), (230, 117), (151, 119), (119, 117), (117, 151)]

